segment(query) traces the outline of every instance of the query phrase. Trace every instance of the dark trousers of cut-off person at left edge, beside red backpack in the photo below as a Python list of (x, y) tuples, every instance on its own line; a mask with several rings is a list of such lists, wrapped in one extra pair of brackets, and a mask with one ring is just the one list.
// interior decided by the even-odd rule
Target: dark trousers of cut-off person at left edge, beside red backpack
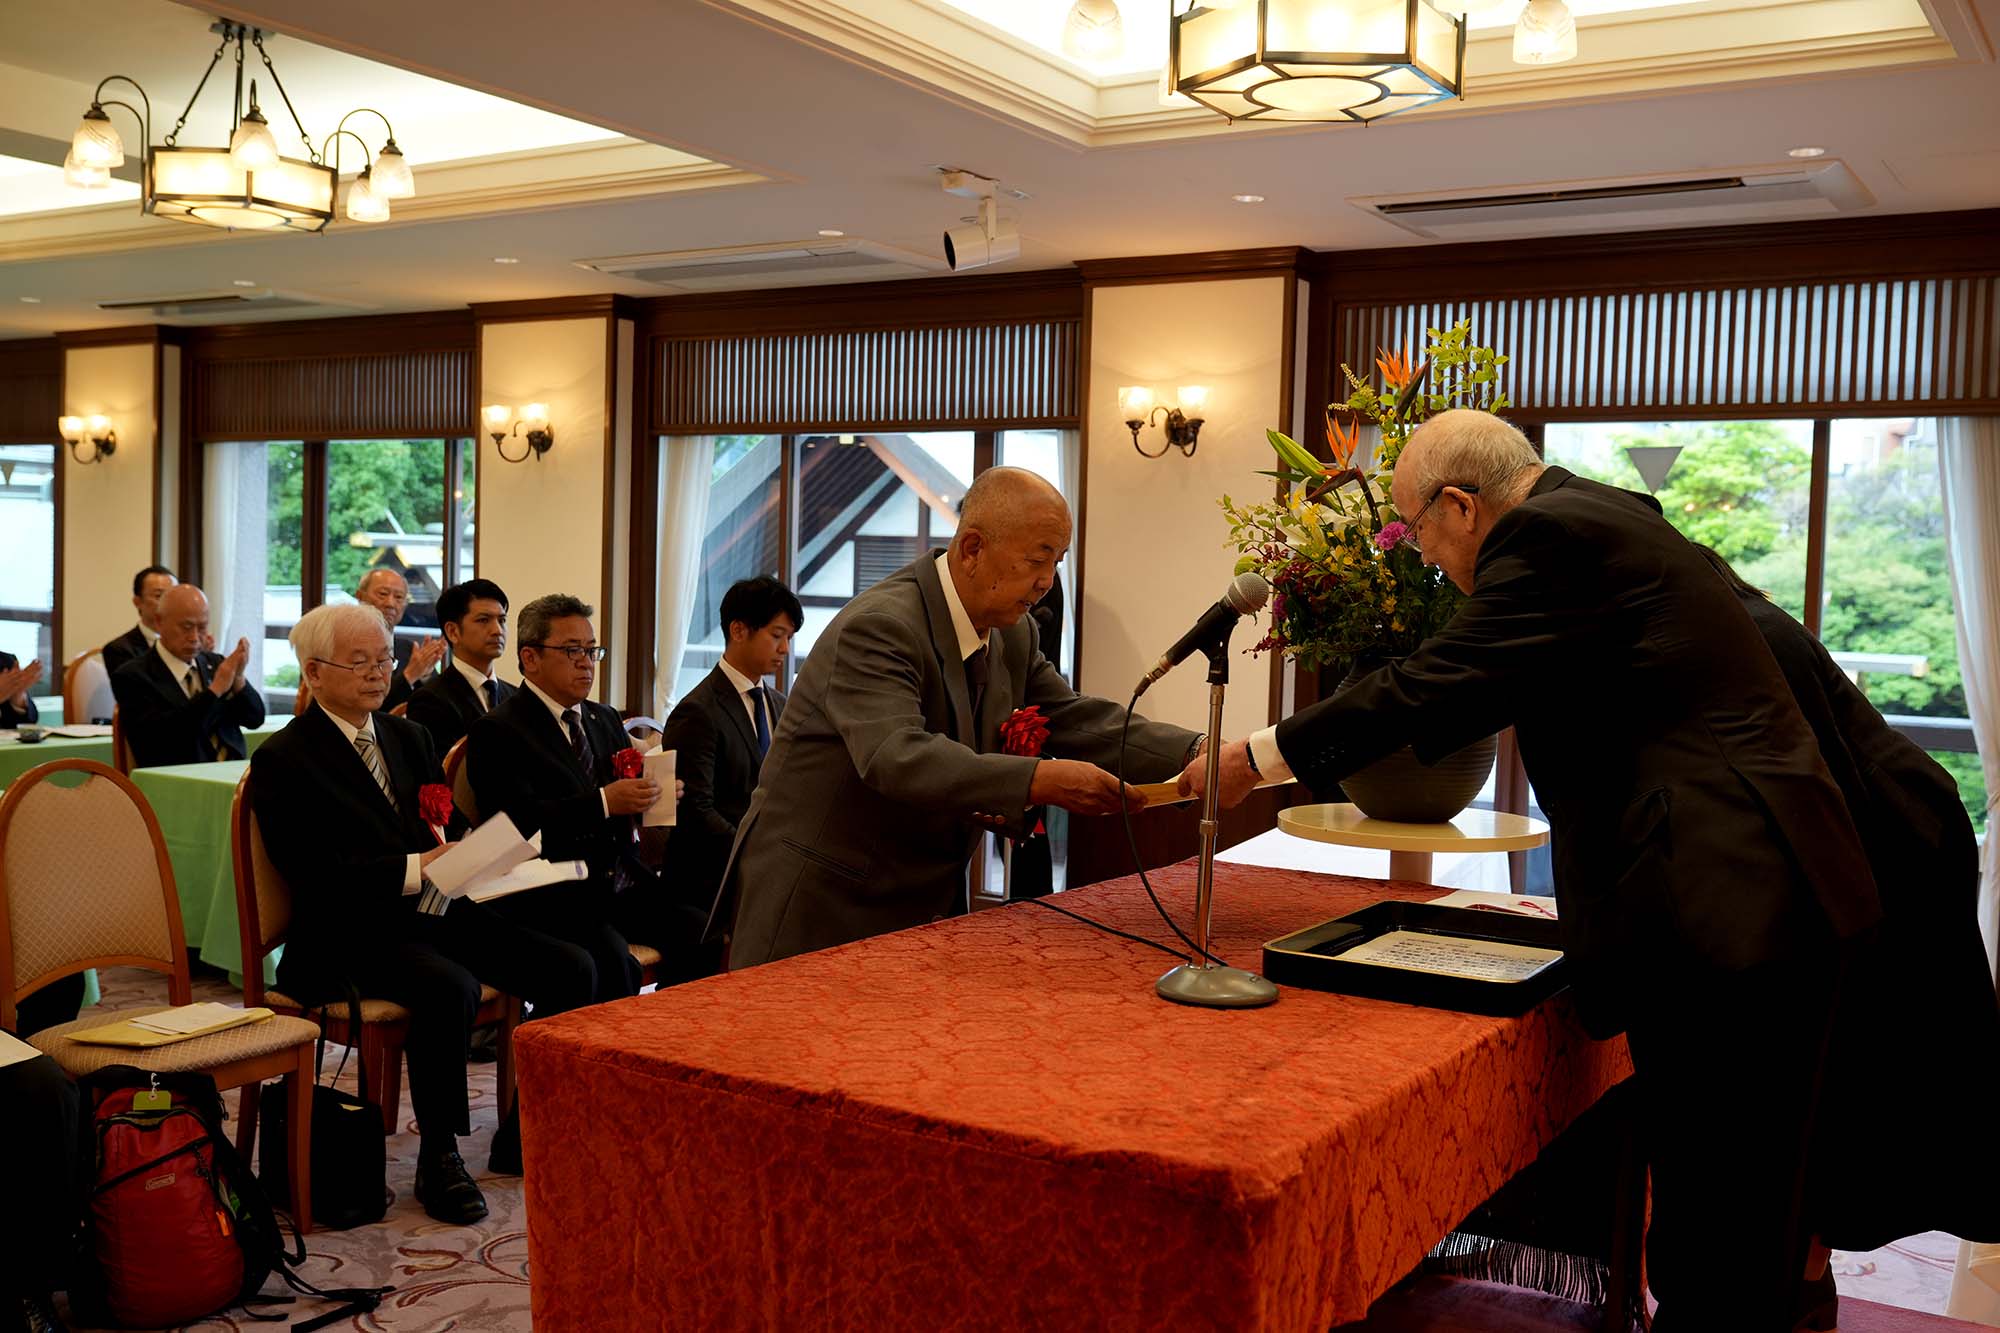
[[(38, 1055), (0, 1069), (0, 1301), (48, 1295), (68, 1283), (70, 1241), (88, 1187), (78, 1139), (82, 1101), (56, 1061)], [(12, 1315), (0, 1305), (0, 1315)]]

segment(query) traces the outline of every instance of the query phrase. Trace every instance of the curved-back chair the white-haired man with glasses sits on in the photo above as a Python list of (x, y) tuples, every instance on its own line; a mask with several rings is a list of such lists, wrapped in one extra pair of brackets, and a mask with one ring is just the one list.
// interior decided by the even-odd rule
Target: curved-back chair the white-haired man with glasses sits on
[[(274, 1009), (284, 1015), (306, 1017), (310, 1009), (284, 991), (264, 989), (264, 955), (284, 945), (292, 931), (292, 889), (284, 875), (272, 865), (264, 851), (264, 833), (258, 829), (256, 811), (250, 809), (250, 773), (236, 781), (236, 799), (230, 801), (230, 859), (236, 867), (236, 931), (244, 951), (244, 1005)], [(476, 1027), (498, 1025), (498, 1105), (502, 1113), (514, 1105), (514, 1027), (520, 1023), (520, 1001), (502, 995), (488, 985), (480, 985), (480, 1009)], [(348, 1031), (346, 1005), (328, 1005), (320, 1011), (318, 1025), (326, 1039), (344, 1047), (354, 1045)], [(362, 1001), (360, 1051), (368, 1065), (368, 1097), (382, 1107), (382, 1133), (396, 1133), (396, 1115), (402, 1107), (402, 1043), (410, 1033), (410, 1011), (394, 1001)], [(236, 1125), (236, 1147), (250, 1157), (256, 1141), (256, 1097), (246, 1097)]]

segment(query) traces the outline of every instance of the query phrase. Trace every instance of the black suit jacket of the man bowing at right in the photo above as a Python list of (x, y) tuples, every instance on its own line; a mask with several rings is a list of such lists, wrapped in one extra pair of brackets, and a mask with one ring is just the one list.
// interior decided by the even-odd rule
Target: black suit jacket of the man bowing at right
[(1796, 955), (1878, 915), (1862, 841), (1778, 662), (1666, 518), (1548, 468), (1494, 522), (1434, 638), (1278, 725), (1328, 791), (1412, 745), (1512, 725), (1552, 827), (1592, 1033), (1660, 1017), (1692, 973)]

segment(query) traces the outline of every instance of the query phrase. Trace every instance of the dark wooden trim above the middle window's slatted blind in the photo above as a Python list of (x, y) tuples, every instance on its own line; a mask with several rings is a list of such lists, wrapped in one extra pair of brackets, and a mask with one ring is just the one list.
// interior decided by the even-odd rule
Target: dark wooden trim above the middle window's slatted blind
[(1006, 324), (1082, 316), (1082, 278), (1074, 268), (1018, 274), (850, 282), (760, 292), (660, 296), (640, 302), (638, 332), (654, 338), (702, 338), (776, 332), (858, 332)]

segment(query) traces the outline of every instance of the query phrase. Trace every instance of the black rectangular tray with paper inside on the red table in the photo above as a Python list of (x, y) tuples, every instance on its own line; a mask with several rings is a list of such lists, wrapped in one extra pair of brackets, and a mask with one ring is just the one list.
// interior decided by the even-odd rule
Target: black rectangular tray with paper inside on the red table
[(1446, 977), (1416, 973), (1376, 963), (1342, 963), (1340, 955), (1356, 945), (1388, 935), (1414, 931), (1484, 939), (1534, 949), (1562, 951), (1560, 927), (1554, 921), (1516, 917), (1512, 913), (1478, 913), (1462, 907), (1430, 907), (1428, 903), (1376, 903), (1346, 917), (1322, 921), (1264, 945), (1264, 975), (1288, 987), (1366, 995), (1424, 1005), (1426, 1009), (1456, 1009), (1494, 1017), (1524, 1015), (1568, 985), (1564, 961), (1546, 963), (1522, 981), (1484, 981), (1476, 977)]

